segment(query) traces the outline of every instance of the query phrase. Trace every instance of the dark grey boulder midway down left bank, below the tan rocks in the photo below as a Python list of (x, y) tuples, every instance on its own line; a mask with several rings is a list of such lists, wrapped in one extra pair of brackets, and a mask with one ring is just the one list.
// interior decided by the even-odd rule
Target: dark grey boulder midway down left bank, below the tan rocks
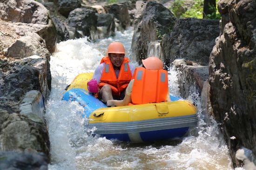
[(7, 72), (0, 76), (0, 104), (11, 105), (19, 113), (21, 99), (31, 90), (39, 91), (45, 100), (51, 87), (47, 59), (32, 56), (2, 67)]

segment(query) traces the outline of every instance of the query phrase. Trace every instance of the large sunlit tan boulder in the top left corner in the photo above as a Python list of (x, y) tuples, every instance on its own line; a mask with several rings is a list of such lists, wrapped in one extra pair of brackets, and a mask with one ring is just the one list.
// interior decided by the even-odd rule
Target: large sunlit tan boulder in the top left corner
[[(21, 10), (22, 9), (22, 10)], [(24, 36), (27, 32), (38, 33), (45, 40), (49, 52), (56, 46), (56, 30), (48, 16), (47, 9), (34, 0), (2, 0), (0, 19), (10, 21), (16, 33)]]

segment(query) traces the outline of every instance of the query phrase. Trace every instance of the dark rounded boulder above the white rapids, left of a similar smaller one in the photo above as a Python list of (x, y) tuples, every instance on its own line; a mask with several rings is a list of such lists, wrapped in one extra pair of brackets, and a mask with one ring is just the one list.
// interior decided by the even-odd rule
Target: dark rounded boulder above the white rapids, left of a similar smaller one
[(94, 39), (97, 27), (97, 15), (94, 10), (87, 8), (76, 8), (69, 13), (67, 25), (81, 31), (83, 36)]

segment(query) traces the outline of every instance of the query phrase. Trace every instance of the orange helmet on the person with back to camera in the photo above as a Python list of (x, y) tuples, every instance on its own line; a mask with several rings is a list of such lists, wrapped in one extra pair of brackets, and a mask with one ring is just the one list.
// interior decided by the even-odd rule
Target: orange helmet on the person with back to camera
[(147, 59), (142, 59), (142, 63), (148, 70), (163, 69), (162, 61), (157, 57), (148, 57)]

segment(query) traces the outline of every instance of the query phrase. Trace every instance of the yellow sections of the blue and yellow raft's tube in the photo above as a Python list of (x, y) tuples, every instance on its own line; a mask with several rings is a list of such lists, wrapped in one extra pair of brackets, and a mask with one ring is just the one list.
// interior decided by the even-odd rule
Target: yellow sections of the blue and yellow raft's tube
[[(88, 91), (87, 82), (93, 73), (81, 73), (74, 78), (68, 90), (82, 88)], [(89, 123), (130, 122), (157, 118), (195, 115), (197, 109), (189, 101), (151, 103), (96, 109), (89, 116)]]

